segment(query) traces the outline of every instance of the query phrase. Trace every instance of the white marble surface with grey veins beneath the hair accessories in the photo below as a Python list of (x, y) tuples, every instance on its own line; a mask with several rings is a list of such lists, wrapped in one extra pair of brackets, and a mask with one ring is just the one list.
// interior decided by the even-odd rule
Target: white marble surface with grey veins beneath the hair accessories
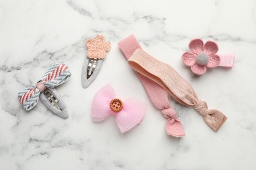
[[(102, 70), (81, 87), (85, 39), (112, 42)], [(172, 103), (186, 136), (169, 137), (117, 42), (135, 34), (152, 56), (191, 82), (200, 99), (228, 120), (211, 130), (194, 109)], [(233, 69), (193, 76), (181, 55), (190, 39), (236, 54)], [(256, 1), (0, 0), (0, 169), (256, 169)], [(39, 102), (26, 112), (17, 93), (57, 61), (72, 71), (58, 87), (71, 114), (62, 120)], [(119, 97), (148, 103), (140, 126), (125, 134), (112, 116), (91, 121), (93, 95), (111, 82)]]

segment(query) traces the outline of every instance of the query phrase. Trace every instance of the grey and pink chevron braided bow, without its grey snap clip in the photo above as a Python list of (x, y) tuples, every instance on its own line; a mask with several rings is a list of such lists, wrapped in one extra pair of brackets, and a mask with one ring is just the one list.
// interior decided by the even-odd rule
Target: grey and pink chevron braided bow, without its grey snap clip
[(31, 110), (37, 104), (39, 95), (45, 88), (54, 88), (66, 82), (70, 76), (70, 70), (65, 64), (54, 64), (36, 85), (28, 86), (18, 93), (20, 105), (26, 110)]

